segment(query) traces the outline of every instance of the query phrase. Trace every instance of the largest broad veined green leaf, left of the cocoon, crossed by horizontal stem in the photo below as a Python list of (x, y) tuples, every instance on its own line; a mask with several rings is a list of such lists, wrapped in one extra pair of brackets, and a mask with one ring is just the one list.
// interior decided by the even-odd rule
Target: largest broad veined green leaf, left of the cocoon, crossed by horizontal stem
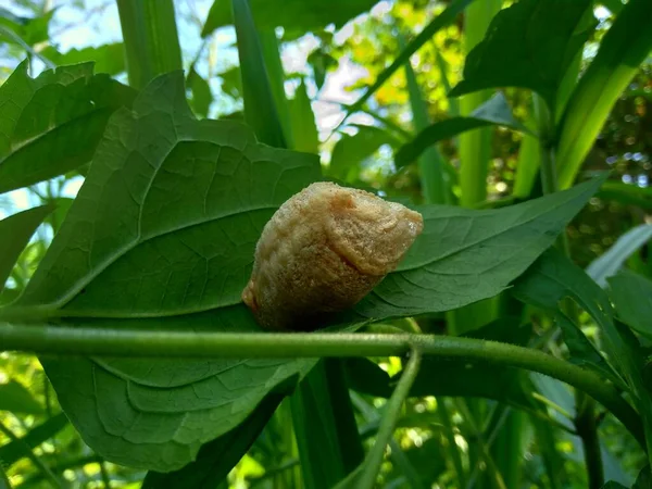
[[(319, 178), (316, 156), (258, 145), (234, 122), (196, 121), (180, 73), (111, 118), (65, 223), (20, 301), (67, 324), (260, 330), (240, 303), (273, 212)], [(168, 472), (238, 426), (312, 361), (41, 359), (98, 453)]]

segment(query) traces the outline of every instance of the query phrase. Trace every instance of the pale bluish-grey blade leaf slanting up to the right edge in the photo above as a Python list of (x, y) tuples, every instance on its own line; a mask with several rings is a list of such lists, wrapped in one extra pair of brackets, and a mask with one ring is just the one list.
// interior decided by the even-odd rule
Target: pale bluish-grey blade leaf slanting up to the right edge
[(587, 266), (587, 274), (604, 288), (606, 279), (615, 275), (630, 255), (652, 238), (652, 226), (642, 224), (634, 227), (618, 238), (618, 240), (601, 256)]

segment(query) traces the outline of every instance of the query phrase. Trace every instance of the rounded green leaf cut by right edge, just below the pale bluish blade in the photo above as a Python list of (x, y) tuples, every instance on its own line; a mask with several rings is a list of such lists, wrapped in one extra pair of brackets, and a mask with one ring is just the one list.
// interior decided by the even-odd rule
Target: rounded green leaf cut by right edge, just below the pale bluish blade
[(607, 281), (618, 317), (652, 340), (652, 281), (628, 271)]

